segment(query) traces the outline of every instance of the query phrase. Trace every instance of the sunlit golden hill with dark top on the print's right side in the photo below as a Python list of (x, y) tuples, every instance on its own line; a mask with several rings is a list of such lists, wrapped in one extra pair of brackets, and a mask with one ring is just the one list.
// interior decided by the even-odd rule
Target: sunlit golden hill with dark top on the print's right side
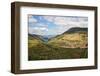
[(48, 41), (48, 44), (55, 47), (63, 48), (87, 48), (88, 46), (88, 29), (74, 27), (61, 35), (58, 35)]

